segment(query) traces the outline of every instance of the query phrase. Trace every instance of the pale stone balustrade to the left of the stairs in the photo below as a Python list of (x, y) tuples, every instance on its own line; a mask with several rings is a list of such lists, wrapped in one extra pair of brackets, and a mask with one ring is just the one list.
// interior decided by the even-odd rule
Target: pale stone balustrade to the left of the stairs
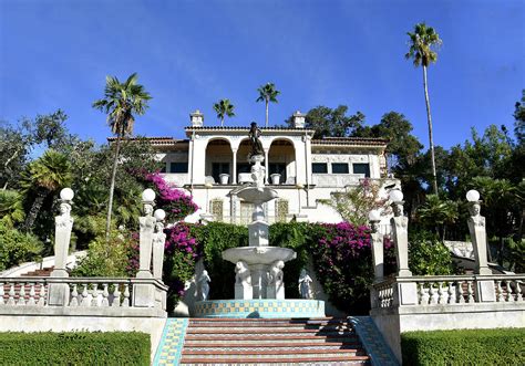
[(69, 287), (62, 307), (140, 307), (133, 302), (134, 285), (154, 289), (155, 309), (166, 309), (167, 286), (157, 279), (107, 278), (0, 278), (0, 307), (61, 307), (49, 303), (50, 285)]

